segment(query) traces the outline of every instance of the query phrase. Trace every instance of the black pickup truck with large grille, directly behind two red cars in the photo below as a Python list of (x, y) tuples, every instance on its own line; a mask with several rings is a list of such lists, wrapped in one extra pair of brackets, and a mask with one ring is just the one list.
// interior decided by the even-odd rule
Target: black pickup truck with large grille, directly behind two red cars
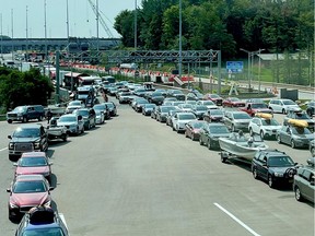
[(45, 152), (48, 150), (47, 129), (40, 123), (27, 123), (18, 127), (8, 135), (9, 160), (19, 160), (24, 152)]

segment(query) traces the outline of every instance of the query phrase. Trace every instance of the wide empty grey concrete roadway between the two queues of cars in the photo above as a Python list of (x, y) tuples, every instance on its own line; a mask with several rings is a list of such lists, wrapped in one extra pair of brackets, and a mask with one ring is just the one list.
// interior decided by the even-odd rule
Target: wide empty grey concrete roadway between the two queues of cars
[[(314, 208), (296, 202), (291, 189), (270, 189), (253, 178), (248, 165), (222, 164), (218, 152), (128, 105), (118, 114), (49, 148), (55, 208), (72, 236), (314, 235)], [(15, 126), (0, 122), (1, 146)], [(299, 163), (310, 157), (307, 150), (268, 145)], [(9, 236), (16, 225), (8, 220), (4, 192), (13, 175), (8, 150), (0, 152), (0, 227)]]

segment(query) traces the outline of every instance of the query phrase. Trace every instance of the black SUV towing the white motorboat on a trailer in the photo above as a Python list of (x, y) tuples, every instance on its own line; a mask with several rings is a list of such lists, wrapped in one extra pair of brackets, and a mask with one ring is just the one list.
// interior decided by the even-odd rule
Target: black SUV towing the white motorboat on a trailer
[(252, 161), (252, 173), (255, 179), (261, 178), (273, 188), (280, 184), (293, 184), (296, 165), (284, 152), (278, 150), (260, 150)]

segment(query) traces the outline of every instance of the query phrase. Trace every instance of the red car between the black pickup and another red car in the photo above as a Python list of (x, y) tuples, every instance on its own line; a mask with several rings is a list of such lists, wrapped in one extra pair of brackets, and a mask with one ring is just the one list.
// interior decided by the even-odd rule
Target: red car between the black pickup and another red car
[(15, 176), (38, 174), (51, 182), (51, 165), (52, 162), (48, 161), (45, 152), (25, 152), (18, 163), (14, 163)]

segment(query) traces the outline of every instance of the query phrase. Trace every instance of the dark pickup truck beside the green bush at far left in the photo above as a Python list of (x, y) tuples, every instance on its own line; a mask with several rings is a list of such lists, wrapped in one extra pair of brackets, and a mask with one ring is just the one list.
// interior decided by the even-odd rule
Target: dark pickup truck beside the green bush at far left
[(7, 113), (7, 121), (9, 123), (13, 121), (27, 122), (31, 119), (42, 121), (44, 117), (45, 110), (42, 105), (18, 106), (12, 111)]

